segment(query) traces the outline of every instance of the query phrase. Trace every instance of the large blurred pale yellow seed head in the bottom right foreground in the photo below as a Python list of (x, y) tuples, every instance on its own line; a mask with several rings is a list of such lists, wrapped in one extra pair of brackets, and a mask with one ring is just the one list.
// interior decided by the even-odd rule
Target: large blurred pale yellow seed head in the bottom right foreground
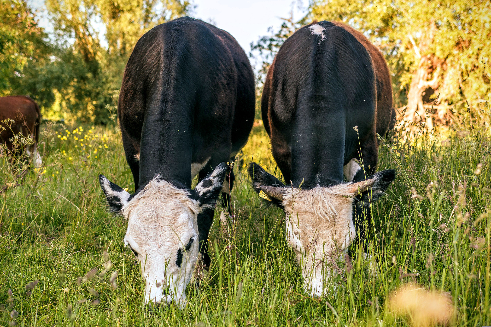
[(398, 315), (408, 315), (414, 327), (445, 324), (452, 316), (452, 302), (446, 294), (428, 291), (413, 283), (397, 290), (389, 299), (388, 309)]

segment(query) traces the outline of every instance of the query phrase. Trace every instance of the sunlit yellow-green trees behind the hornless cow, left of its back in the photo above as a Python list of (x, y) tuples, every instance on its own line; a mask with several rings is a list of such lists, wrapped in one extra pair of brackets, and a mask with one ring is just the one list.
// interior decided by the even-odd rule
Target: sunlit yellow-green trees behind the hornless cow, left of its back
[(34, 55), (19, 74), (8, 75), (11, 88), (4, 94), (30, 95), (50, 118), (95, 123), (109, 121), (107, 106), (114, 103), (114, 91), (121, 86), (124, 66), (141, 35), (193, 9), (187, 0), (46, 0), (45, 4), (54, 34), (43, 47), (32, 47)]

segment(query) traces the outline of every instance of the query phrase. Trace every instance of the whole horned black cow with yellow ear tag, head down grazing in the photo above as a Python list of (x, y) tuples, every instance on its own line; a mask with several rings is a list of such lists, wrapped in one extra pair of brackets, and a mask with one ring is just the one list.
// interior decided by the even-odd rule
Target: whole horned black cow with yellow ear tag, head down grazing
[(287, 185), (257, 164), (249, 174), (256, 192), (285, 211), (304, 289), (321, 296), (330, 276), (326, 263), (360, 233), (355, 213), (395, 178), (394, 170), (372, 175), (376, 133), (385, 134), (393, 116), (382, 53), (347, 25), (324, 21), (300, 28), (268, 71), (262, 114)]

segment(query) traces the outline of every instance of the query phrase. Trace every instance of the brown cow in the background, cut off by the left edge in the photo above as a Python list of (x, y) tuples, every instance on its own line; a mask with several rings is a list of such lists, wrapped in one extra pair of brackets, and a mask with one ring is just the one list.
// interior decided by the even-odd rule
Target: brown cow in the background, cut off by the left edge
[[(14, 122), (5, 123), (5, 120)], [(34, 168), (41, 166), (41, 156), (37, 151), (39, 129), (41, 126), (41, 110), (34, 100), (25, 96), (10, 96), (0, 98), (0, 142), (5, 143), (9, 151), (16, 151), (12, 137), (18, 133), (31, 136), (34, 144), (26, 147), (27, 154)]]

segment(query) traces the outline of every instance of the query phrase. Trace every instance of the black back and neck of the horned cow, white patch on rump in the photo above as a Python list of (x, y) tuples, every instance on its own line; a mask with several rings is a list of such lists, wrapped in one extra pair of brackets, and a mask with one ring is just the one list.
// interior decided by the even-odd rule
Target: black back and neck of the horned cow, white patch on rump
[(265, 87), (263, 121), (285, 180), (341, 182), (358, 135), (363, 142), (374, 129), (376, 85), (367, 50), (330, 22), (304, 26), (278, 51)]

